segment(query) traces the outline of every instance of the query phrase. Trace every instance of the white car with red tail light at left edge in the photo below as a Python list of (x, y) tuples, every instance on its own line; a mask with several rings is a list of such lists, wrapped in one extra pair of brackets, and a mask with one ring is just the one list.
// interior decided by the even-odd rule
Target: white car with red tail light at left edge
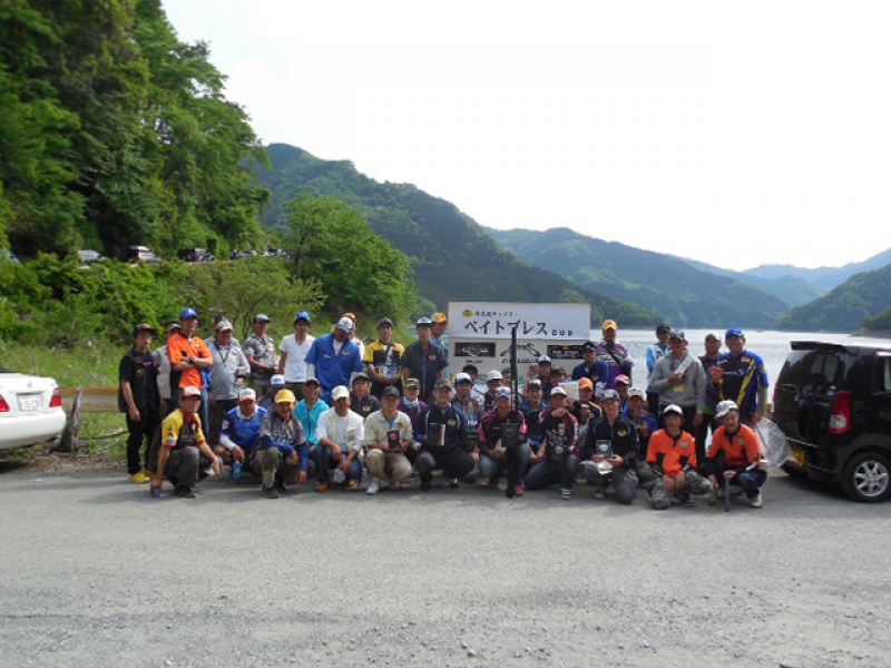
[(53, 379), (0, 367), (0, 450), (58, 436), (65, 421), (62, 395)]

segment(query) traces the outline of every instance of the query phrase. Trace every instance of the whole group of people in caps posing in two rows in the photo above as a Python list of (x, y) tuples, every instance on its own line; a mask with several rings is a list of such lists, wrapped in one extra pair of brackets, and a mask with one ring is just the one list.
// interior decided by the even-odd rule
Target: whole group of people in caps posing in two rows
[(306, 311), (276, 346), (270, 320), (257, 314), (241, 343), (218, 317), (205, 340), (185, 308), (155, 350), (154, 327), (134, 328), (119, 367), (131, 481), (157, 494), (168, 480), (192, 498), (203, 478), (247, 473), (275, 499), (312, 475), (319, 493), (339, 485), (374, 495), (414, 487), (415, 474), (429, 490), (441, 470), (456, 488), (501, 489), (503, 478), (508, 497), (557, 487), (571, 499), (586, 481), (595, 498), (611, 488), (627, 504), (644, 488), (658, 509), (694, 503), (726, 481), (762, 505), (764, 454), (750, 425), (764, 411), (767, 377), (738, 328), (725, 333), (728, 352), (709, 334), (696, 357), (684, 332), (659, 325), (642, 390), (611, 320), (601, 341), (580, 346), (571, 373), (542, 355), (521, 386), (509, 369), (490, 371), (483, 385), (472, 364), (450, 380), (443, 313), (418, 318), (408, 346), (393, 341), (386, 317), (378, 338), (362, 342), (351, 313), (314, 337)]

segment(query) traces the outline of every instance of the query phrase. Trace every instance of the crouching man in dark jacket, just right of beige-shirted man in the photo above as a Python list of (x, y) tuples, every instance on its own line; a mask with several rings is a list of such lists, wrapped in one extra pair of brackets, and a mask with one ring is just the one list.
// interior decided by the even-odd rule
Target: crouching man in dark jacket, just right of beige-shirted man
[(432, 485), (434, 469), (443, 469), (451, 481), (450, 487), (457, 488), (458, 480), (470, 475), (477, 465), (473, 455), (467, 450), (464, 419), (454, 410), (451, 399), (452, 386), (449, 381), (438, 380), (433, 390), (433, 403), (422, 416), (424, 438), (414, 462), (422, 491), (428, 491)]

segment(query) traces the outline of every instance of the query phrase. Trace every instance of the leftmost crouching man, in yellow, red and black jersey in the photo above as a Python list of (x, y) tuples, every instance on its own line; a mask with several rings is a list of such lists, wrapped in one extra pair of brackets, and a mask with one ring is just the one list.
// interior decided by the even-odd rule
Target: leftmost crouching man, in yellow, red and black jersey
[(157, 470), (151, 480), (151, 493), (159, 493), (165, 475), (174, 484), (174, 494), (185, 499), (197, 497), (195, 485), (200, 471), (209, 464), (219, 477), (219, 460), (204, 439), (196, 412), (202, 391), (186, 385), (177, 397), (178, 407), (161, 423), (160, 451)]

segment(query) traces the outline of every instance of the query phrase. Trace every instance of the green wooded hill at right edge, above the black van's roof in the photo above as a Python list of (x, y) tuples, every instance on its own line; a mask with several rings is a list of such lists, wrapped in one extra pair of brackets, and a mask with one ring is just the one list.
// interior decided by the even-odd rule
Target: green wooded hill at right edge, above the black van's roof
[(852, 332), (875, 322), (864, 321), (891, 308), (891, 265), (856, 274), (819, 299), (793, 308), (777, 321), (781, 330)]

